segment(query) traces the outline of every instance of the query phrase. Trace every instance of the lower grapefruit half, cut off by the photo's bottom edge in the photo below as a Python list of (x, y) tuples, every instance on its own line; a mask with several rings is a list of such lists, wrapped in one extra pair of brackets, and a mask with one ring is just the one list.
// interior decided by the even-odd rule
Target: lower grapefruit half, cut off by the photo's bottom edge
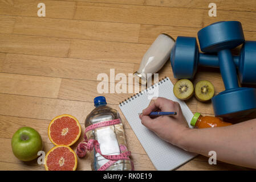
[(68, 146), (55, 146), (47, 152), (44, 158), (46, 171), (75, 171), (78, 158)]

